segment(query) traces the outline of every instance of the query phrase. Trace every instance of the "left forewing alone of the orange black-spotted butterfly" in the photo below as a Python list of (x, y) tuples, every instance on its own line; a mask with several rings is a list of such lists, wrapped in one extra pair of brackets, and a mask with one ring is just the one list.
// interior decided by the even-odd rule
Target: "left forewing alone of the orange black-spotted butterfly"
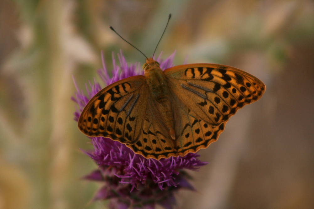
[(78, 128), (87, 136), (104, 136), (133, 144), (142, 130), (147, 99), (145, 77), (132, 76), (99, 91), (86, 105)]

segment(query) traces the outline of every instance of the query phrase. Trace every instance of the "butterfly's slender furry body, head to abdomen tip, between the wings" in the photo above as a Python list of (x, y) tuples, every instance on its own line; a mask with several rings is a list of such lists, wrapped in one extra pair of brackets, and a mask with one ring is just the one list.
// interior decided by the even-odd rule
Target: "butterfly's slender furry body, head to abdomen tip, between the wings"
[(171, 105), (170, 89), (164, 72), (161, 70), (159, 63), (152, 58), (146, 59), (143, 65), (144, 76), (149, 86), (150, 96), (154, 100), (154, 106), (165, 122), (169, 135), (175, 139), (174, 114)]

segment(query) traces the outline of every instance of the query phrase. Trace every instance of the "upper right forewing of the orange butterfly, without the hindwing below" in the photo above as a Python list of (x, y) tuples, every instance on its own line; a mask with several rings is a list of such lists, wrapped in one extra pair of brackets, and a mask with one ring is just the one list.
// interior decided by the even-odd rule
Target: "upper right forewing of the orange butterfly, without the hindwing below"
[(179, 65), (165, 70), (165, 75), (175, 97), (213, 126), (257, 101), (266, 89), (256, 77), (226, 65)]

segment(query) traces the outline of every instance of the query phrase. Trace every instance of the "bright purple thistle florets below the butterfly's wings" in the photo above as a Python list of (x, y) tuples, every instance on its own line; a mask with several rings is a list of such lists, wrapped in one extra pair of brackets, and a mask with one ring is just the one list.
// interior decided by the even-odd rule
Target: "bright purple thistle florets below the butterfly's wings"
[[(108, 165), (117, 168), (116, 176), (121, 178), (120, 183), (131, 184), (132, 190), (138, 183), (145, 184), (149, 178), (158, 184), (176, 186), (175, 176), (181, 169), (196, 170), (206, 165), (197, 159), (199, 155), (188, 153), (184, 157), (170, 157), (146, 159), (140, 154), (135, 154), (132, 149), (110, 138), (93, 137), (92, 143), (95, 151), (86, 152), (98, 165)], [(120, 172), (122, 171), (122, 172)]]

